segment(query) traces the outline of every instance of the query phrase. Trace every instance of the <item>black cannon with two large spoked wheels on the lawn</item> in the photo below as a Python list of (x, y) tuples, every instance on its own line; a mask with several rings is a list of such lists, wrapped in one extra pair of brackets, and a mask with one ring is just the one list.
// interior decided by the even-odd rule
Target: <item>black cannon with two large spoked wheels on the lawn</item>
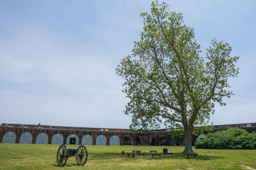
[(80, 145), (78, 148), (67, 148), (65, 144), (61, 144), (57, 152), (58, 166), (64, 166), (67, 159), (71, 156), (76, 156), (77, 164), (84, 165), (88, 157), (86, 147), (84, 145)]

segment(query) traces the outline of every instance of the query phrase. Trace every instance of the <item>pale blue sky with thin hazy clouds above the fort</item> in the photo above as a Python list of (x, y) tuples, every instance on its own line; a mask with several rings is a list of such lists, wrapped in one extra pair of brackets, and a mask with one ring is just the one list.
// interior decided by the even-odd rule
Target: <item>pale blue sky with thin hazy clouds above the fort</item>
[[(240, 73), (229, 79), (236, 95), (215, 105), (210, 122), (256, 122), (256, 1), (165, 2), (195, 29), (201, 56), (213, 38), (240, 56)], [(140, 13), (150, 7), (149, 0), (0, 0), (0, 124), (129, 128), (115, 68), (140, 40)]]

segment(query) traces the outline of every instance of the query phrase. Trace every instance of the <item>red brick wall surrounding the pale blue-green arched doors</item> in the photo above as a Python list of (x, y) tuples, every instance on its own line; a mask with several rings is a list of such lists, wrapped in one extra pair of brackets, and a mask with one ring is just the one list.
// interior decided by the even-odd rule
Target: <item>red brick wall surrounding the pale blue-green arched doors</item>
[[(2, 124), (3, 125), (3, 124)], [(9, 124), (11, 125), (11, 124)], [(20, 124), (15, 124), (15, 125), (20, 125)], [(213, 132), (216, 132), (218, 130), (226, 130), (227, 126), (231, 126), (234, 127), (235, 125), (240, 125), (240, 124), (234, 124), (234, 125), (216, 125), (214, 126), (215, 128), (212, 130)], [(243, 124), (241, 124), (243, 125)], [(246, 125), (246, 124), (245, 124)], [(256, 123), (251, 123), (252, 127), (239, 127), (241, 129), (245, 129), (247, 130), (249, 133), (252, 133), (253, 131), (256, 131)], [(255, 125), (255, 126), (254, 126)], [(26, 126), (26, 125), (24, 125)], [(32, 126), (32, 125), (31, 125)], [(79, 144), (81, 144), (82, 138), (84, 135), (90, 135), (93, 138), (93, 145), (96, 144), (96, 138), (99, 135), (103, 135), (106, 137), (107, 140), (107, 145), (109, 145), (110, 142), (110, 138), (111, 136), (118, 136), (119, 140), (120, 140), (120, 145), (123, 145), (123, 139), (125, 138), (125, 136), (128, 136), (131, 140), (132, 140), (132, 145), (136, 144), (136, 137), (139, 136), (141, 139), (141, 145), (144, 145), (144, 141), (147, 141), (147, 144), (150, 144), (150, 138), (153, 136), (155, 139), (155, 144), (158, 145), (160, 138), (165, 137), (166, 138), (166, 145), (171, 145), (172, 141), (176, 142), (180, 142), (181, 144), (183, 143), (183, 138), (180, 139), (180, 141), (178, 141), (177, 138), (172, 139), (172, 136), (169, 135), (168, 131), (151, 131), (151, 132), (144, 132), (144, 133), (129, 133), (128, 129), (108, 129), (109, 131), (105, 131), (105, 129), (103, 131), (101, 131), (100, 129), (102, 128), (94, 128), (94, 130), (88, 130), (87, 127), (81, 127), (87, 130), (77, 130), (80, 127), (77, 127), (76, 130), (71, 130), (71, 127), (69, 127), (69, 129), (56, 129), (57, 126), (52, 126), (55, 128), (33, 128), (33, 127), (0, 127), (0, 142), (3, 141), (3, 136), (4, 134), (6, 134), (7, 132), (14, 132), (16, 135), (16, 141), (15, 143), (19, 143), (20, 142), (20, 136), (25, 133), (25, 132), (29, 132), (32, 134), (32, 144), (35, 144), (36, 142), (36, 137), (40, 134), (40, 133), (46, 133), (48, 136), (48, 144), (52, 143), (52, 137), (59, 133), (63, 136), (64, 141), (63, 144), (66, 144), (66, 139), (69, 135), (71, 134), (75, 134), (76, 136), (79, 137)], [(236, 126), (235, 126), (236, 127)], [(75, 127), (72, 127), (75, 128)], [(92, 128), (93, 129), (93, 128)], [(95, 129), (99, 129), (99, 130), (95, 130)], [(113, 131), (111, 131), (113, 130)], [(114, 131), (115, 130), (115, 131)], [(165, 129), (166, 130), (166, 129)], [(192, 144), (195, 143), (197, 136), (192, 136)]]

